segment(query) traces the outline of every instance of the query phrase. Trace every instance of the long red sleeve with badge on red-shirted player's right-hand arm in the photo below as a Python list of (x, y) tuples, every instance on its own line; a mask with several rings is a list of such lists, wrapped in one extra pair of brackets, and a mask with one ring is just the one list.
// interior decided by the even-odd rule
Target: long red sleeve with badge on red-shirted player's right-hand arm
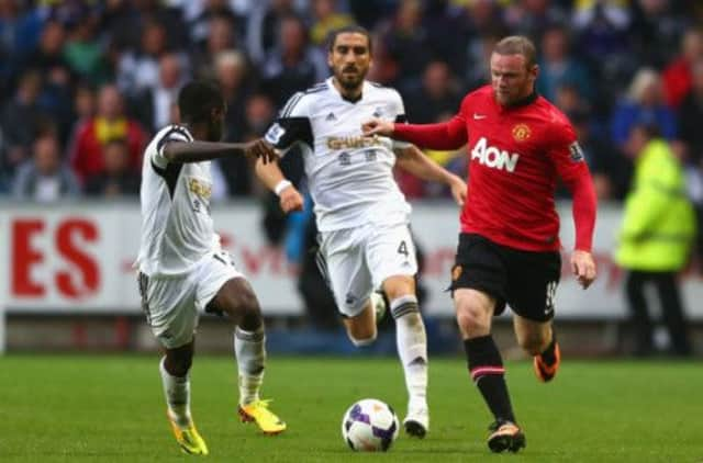
[(573, 127), (568, 122), (559, 124), (550, 135), (553, 139), (547, 151), (548, 156), (573, 196), (574, 248), (591, 251), (595, 228), (596, 200), (583, 150), (579, 146)]

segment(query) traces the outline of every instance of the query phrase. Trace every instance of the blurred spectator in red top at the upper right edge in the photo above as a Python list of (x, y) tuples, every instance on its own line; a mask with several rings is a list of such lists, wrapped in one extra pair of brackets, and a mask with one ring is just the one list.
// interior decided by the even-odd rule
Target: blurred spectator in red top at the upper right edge
[(666, 67), (662, 74), (667, 103), (678, 109), (691, 90), (693, 64), (703, 59), (703, 31), (690, 29), (681, 41), (681, 54)]

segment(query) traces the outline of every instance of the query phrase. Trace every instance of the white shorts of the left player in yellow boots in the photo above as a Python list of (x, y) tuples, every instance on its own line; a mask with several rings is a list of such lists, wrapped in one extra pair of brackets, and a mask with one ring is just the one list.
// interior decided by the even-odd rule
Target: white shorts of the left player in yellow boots
[(244, 278), (226, 251), (203, 257), (190, 272), (179, 276), (140, 273), (142, 309), (152, 332), (166, 349), (189, 343), (203, 312), (230, 280)]

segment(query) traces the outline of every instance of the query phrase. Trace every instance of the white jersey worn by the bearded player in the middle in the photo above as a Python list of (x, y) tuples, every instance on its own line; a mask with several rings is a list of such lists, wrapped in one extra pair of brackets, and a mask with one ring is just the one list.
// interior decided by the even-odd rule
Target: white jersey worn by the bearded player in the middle
[(320, 232), (410, 221), (393, 179), (393, 147), (406, 144), (365, 136), (361, 124), (371, 117), (404, 122), (400, 94), (365, 81), (360, 100), (350, 102), (330, 78), (291, 97), (266, 134), (282, 151), (300, 145)]

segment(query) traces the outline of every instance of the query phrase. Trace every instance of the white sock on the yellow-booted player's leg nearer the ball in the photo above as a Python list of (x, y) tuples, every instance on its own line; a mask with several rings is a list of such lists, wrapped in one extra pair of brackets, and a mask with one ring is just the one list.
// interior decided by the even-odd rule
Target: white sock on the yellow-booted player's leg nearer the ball
[(234, 353), (239, 373), (239, 404), (248, 405), (259, 399), (259, 389), (264, 381), (266, 349), (264, 329), (245, 331), (234, 330)]

